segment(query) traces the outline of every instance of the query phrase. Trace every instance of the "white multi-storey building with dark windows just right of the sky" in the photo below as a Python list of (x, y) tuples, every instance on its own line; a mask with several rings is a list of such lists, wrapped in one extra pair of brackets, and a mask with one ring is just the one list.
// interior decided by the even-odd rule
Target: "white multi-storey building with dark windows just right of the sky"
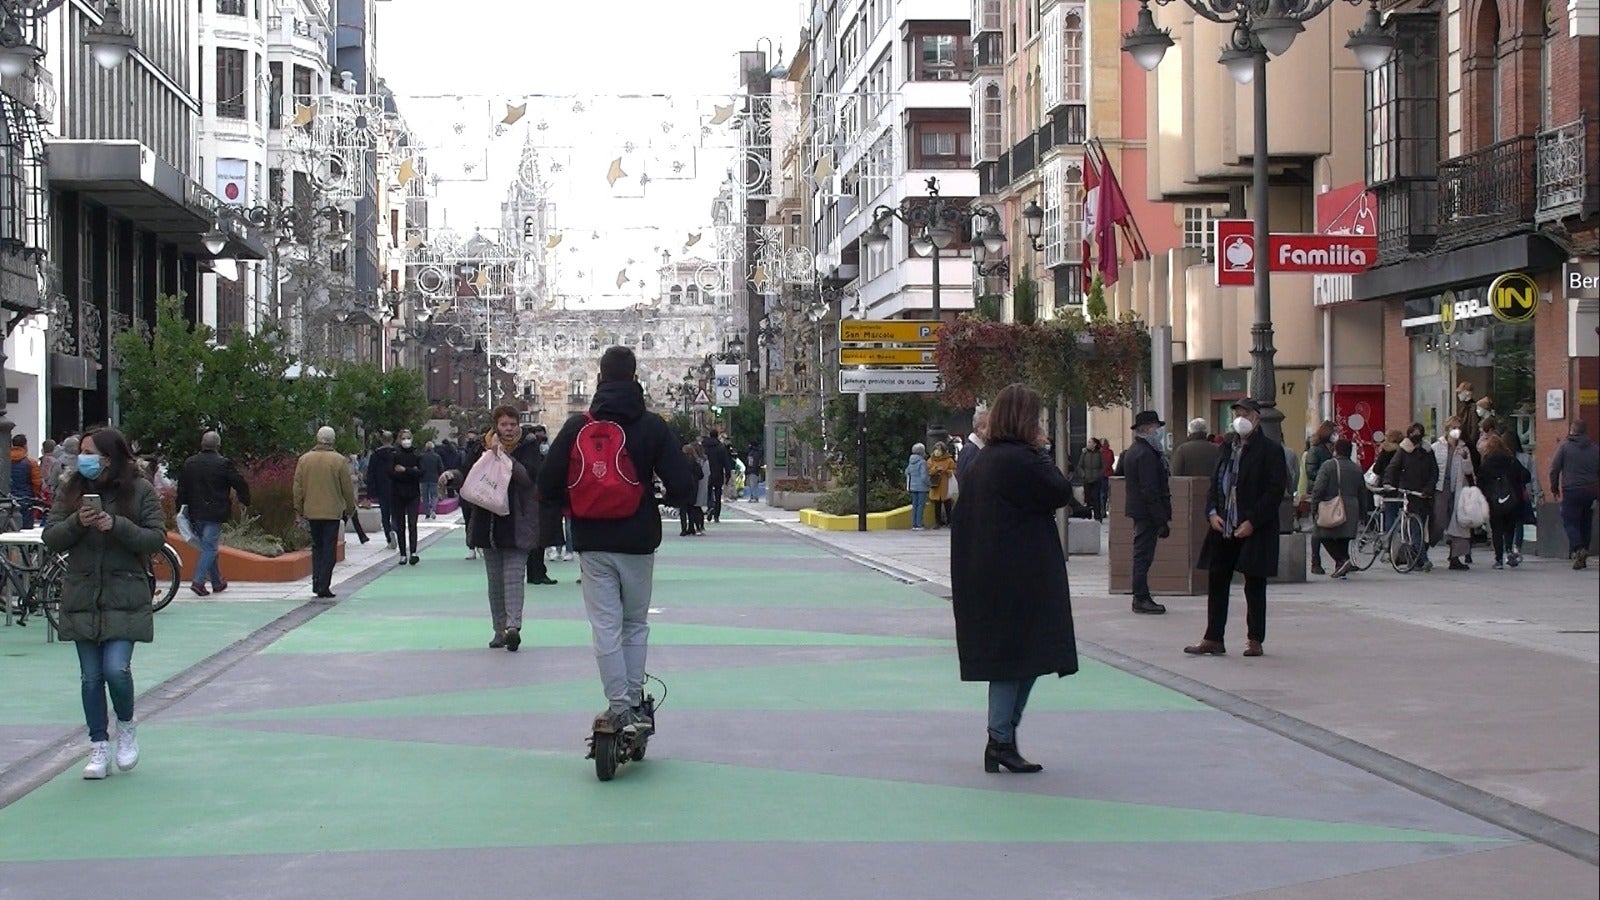
[[(978, 195), (970, 14), (970, 0), (811, 3), (811, 91), (837, 107), (816, 120), (838, 154), (813, 207), (816, 250), (834, 280), (853, 279), (846, 290), (869, 319), (926, 315), (934, 283), (934, 261), (912, 251), (904, 223), (882, 247), (864, 239), (874, 211), (926, 197), (930, 178), (954, 205)], [(942, 311), (973, 307), (971, 255), (960, 240), (941, 251), (938, 280)]]

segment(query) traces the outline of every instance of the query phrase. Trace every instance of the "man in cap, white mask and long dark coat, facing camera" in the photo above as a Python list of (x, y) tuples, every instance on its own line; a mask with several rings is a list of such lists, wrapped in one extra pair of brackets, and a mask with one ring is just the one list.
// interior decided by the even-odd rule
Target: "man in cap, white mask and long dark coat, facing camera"
[(1234, 416), (1234, 434), (1222, 447), (1206, 496), (1211, 528), (1200, 549), (1200, 569), (1211, 573), (1205, 637), (1184, 653), (1227, 653), (1222, 634), (1235, 572), (1245, 577), (1245, 655), (1259, 657), (1267, 639), (1267, 578), (1278, 572), (1278, 504), (1288, 490), (1288, 469), (1283, 445), (1261, 432), (1259, 402), (1235, 402)]

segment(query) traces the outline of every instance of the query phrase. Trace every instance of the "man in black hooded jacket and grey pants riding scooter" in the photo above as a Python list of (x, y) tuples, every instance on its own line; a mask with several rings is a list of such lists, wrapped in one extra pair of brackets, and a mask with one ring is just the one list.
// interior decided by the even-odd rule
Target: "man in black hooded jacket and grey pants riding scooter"
[[(654, 722), (645, 716), (645, 657), (650, 642), (650, 593), (656, 548), (661, 546), (661, 509), (654, 492), (661, 479), (667, 506), (694, 503), (694, 474), (677, 447), (666, 420), (645, 410), (638, 384), (638, 360), (627, 348), (610, 348), (600, 357), (600, 384), (589, 415), (614, 421), (627, 439), (634, 472), (646, 490), (638, 509), (627, 519), (582, 519), (573, 516), (573, 549), (579, 556), (584, 607), (594, 631), (595, 661), (605, 687), (608, 709), (595, 717), (597, 729), (650, 733)], [(568, 461), (587, 416), (573, 416), (550, 444), (539, 472), (539, 498), (566, 506), (573, 484)]]

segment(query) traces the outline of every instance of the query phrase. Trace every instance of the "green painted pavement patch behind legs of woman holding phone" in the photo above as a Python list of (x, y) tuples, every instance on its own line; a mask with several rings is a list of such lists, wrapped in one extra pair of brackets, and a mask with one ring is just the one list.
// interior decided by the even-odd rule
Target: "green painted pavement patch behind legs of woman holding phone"
[[(173, 604), (155, 617), (155, 642), (133, 649), (136, 690), (147, 690), (301, 605), (301, 601)], [(0, 725), (82, 724), (78, 655), (45, 644), (45, 621), (0, 626)]]

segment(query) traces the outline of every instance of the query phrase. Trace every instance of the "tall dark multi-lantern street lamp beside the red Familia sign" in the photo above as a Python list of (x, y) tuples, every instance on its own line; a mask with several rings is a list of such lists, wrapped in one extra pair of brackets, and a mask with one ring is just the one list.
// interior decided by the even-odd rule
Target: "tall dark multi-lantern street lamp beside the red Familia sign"
[[(1155, 0), (1165, 6), (1176, 0)], [(1261, 410), (1261, 426), (1267, 437), (1283, 440), (1283, 413), (1277, 408), (1278, 381), (1274, 370), (1277, 349), (1272, 344), (1272, 266), (1267, 245), (1272, 229), (1267, 224), (1267, 181), (1272, 144), (1267, 141), (1267, 59), (1282, 56), (1306, 30), (1306, 22), (1315, 19), (1334, 0), (1182, 0), (1195, 14), (1218, 24), (1232, 24), (1227, 46), (1218, 62), (1240, 85), (1251, 85), (1254, 93), (1254, 155), (1251, 159), (1251, 207), (1254, 219), (1254, 280), (1256, 309), (1251, 335), (1250, 396)], [(1344, 43), (1355, 53), (1368, 72), (1381, 69), (1395, 51), (1395, 38), (1384, 32), (1378, 0), (1344, 0), (1352, 6), (1366, 3), (1366, 18), (1360, 29), (1352, 30)], [(1139, 0), (1139, 18), (1134, 29), (1123, 35), (1122, 48), (1147, 72), (1154, 72), (1173, 46), (1168, 29), (1155, 26), (1150, 0)]]

